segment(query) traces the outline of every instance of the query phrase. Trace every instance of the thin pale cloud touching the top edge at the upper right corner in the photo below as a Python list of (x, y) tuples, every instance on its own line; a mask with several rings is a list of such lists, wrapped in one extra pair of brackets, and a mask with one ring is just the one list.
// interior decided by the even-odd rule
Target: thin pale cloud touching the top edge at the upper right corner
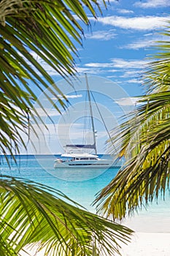
[(169, 0), (137, 1), (134, 5), (142, 8), (170, 7)]

